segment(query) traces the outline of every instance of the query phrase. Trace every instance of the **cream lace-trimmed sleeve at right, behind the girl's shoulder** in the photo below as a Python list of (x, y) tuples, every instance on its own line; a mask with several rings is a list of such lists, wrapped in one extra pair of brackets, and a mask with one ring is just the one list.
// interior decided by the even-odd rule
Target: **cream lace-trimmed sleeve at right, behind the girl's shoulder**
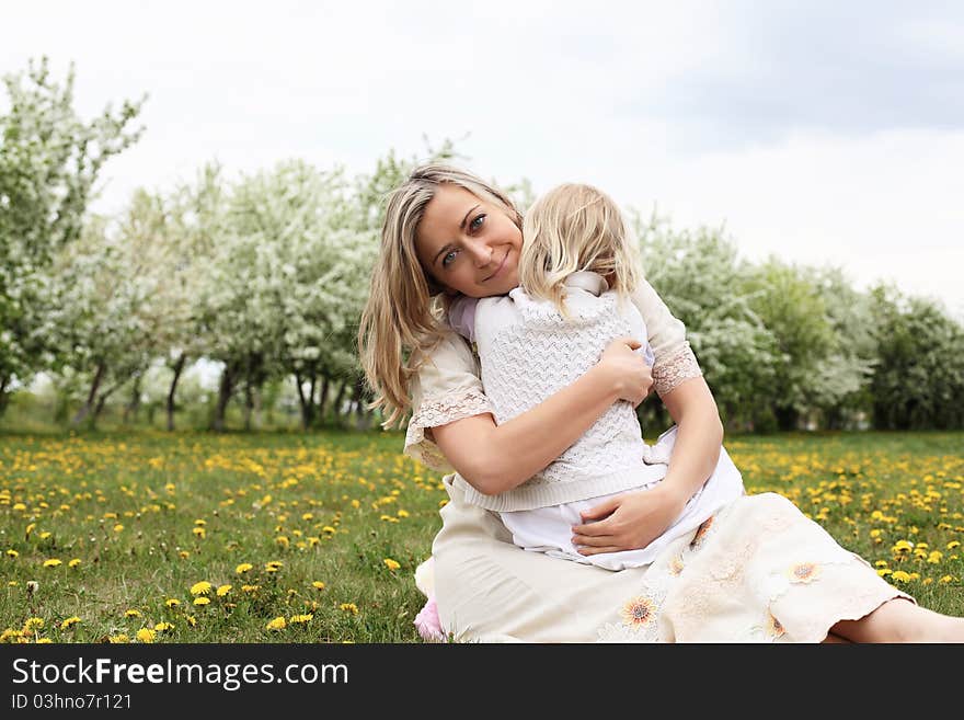
[(650, 333), (650, 345), (656, 356), (653, 386), (659, 397), (666, 396), (684, 380), (700, 377), (703, 372), (686, 340), (686, 325), (673, 317), (669, 308), (646, 281), (632, 295)]

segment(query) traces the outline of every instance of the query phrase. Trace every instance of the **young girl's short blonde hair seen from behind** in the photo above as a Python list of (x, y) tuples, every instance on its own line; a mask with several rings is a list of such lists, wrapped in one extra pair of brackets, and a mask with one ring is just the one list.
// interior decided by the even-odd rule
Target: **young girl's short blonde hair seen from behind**
[(552, 300), (567, 317), (566, 276), (599, 273), (620, 298), (640, 281), (639, 248), (612, 199), (592, 185), (566, 183), (549, 191), (526, 213), (519, 285), (531, 297)]

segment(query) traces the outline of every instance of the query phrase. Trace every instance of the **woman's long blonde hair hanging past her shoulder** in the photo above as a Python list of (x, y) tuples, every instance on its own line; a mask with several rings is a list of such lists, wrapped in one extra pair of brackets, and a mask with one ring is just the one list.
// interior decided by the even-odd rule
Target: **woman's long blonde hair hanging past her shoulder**
[(389, 194), (381, 248), (358, 327), (358, 355), (375, 393), (369, 408), (383, 408), (386, 428), (402, 424), (411, 405), (409, 381), (443, 336), (439, 320), (445, 297), (439, 305), (437, 296), (444, 288), (423, 268), (415, 251), (418, 224), (443, 184), (501, 207), (521, 227), (521, 216), (507, 195), (451, 165), (416, 168)]

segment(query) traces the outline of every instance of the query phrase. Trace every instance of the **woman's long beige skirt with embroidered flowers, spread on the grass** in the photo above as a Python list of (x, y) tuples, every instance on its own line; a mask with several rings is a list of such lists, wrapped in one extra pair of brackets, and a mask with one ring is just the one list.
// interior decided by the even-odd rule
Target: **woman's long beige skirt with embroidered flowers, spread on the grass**
[(517, 548), (454, 478), (433, 557), (457, 641), (819, 642), (839, 620), (914, 602), (776, 493), (739, 498), (652, 564), (612, 572)]

